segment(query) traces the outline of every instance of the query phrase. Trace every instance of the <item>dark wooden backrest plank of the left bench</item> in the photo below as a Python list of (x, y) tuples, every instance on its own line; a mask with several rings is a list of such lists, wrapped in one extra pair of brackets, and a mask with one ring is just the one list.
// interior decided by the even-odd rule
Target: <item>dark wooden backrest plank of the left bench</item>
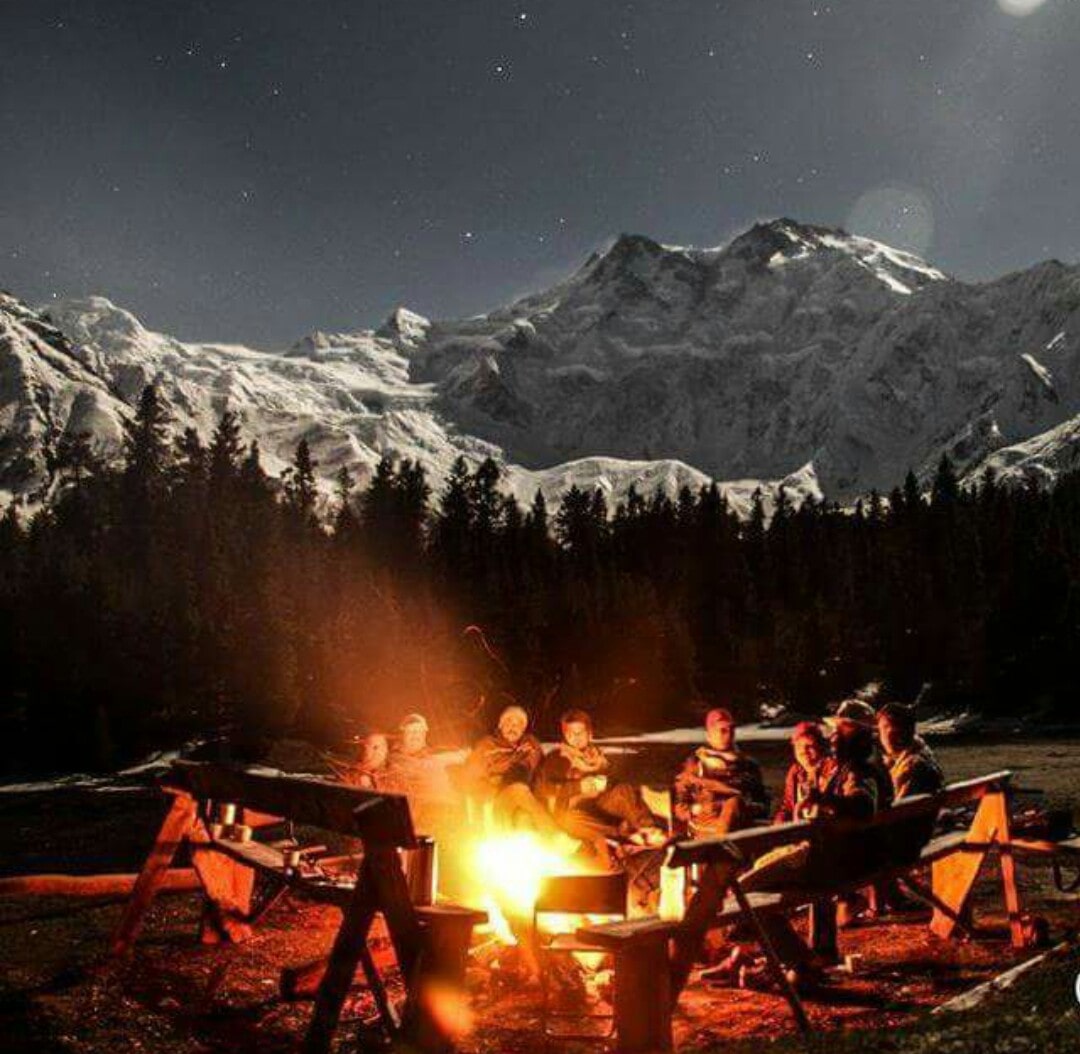
[(210, 761), (174, 761), (163, 779), (201, 800), (229, 801), (296, 823), (361, 838), (365, 843), (414, 848), (408, 799), (361, 790), (275, 769), (245, 769)]

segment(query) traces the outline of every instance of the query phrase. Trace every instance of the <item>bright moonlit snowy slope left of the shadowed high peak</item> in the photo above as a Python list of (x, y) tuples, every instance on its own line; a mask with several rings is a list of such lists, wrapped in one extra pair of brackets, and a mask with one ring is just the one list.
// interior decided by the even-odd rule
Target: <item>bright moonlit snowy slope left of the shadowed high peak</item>
[(395, 344), (370, 333), (313, 333), (284, 353), (271, 353), (183, 343), (145, 329), (100, 297), (65, 301), (49, 314), (127, 403), (156, 383), (178, 423), (203, 435), (226, 407), (237, 411), (275, 474), (301, 438), (327, 481), (342, 465), (365, 478), (383, 450), (420, 458), (436, 479), (459, 454), (474, 460), (498, 454), (442, 421), (433, 413), (434, 387), (413, 383)]

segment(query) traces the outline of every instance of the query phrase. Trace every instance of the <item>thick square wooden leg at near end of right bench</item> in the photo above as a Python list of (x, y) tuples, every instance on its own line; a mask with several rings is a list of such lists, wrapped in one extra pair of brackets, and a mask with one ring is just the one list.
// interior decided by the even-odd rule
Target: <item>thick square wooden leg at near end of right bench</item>
[(667, 940), (658, 937), (620, 949), (615, 957), (615, 1035), (618, 1054), (670, 1051), (671, 974)]

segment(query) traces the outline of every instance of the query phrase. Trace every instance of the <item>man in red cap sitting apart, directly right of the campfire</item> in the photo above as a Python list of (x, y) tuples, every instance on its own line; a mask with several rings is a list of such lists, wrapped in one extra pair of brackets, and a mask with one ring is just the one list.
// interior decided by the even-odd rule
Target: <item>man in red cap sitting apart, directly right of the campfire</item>
[(761, 767), (735, 746), (730, 711), (705, 715), (705, 743), (683, 762), (673, 805), (675, 820), (694, 837), (738, 830), (768, 815)]

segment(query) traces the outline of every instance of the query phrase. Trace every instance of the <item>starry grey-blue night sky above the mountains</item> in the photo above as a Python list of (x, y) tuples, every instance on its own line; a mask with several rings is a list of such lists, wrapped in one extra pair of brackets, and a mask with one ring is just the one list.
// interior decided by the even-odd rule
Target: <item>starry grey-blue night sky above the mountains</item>
[(0, 287), (268, 347), (779, 215), (1080, 257), (1078, 0), (2, 0)]

